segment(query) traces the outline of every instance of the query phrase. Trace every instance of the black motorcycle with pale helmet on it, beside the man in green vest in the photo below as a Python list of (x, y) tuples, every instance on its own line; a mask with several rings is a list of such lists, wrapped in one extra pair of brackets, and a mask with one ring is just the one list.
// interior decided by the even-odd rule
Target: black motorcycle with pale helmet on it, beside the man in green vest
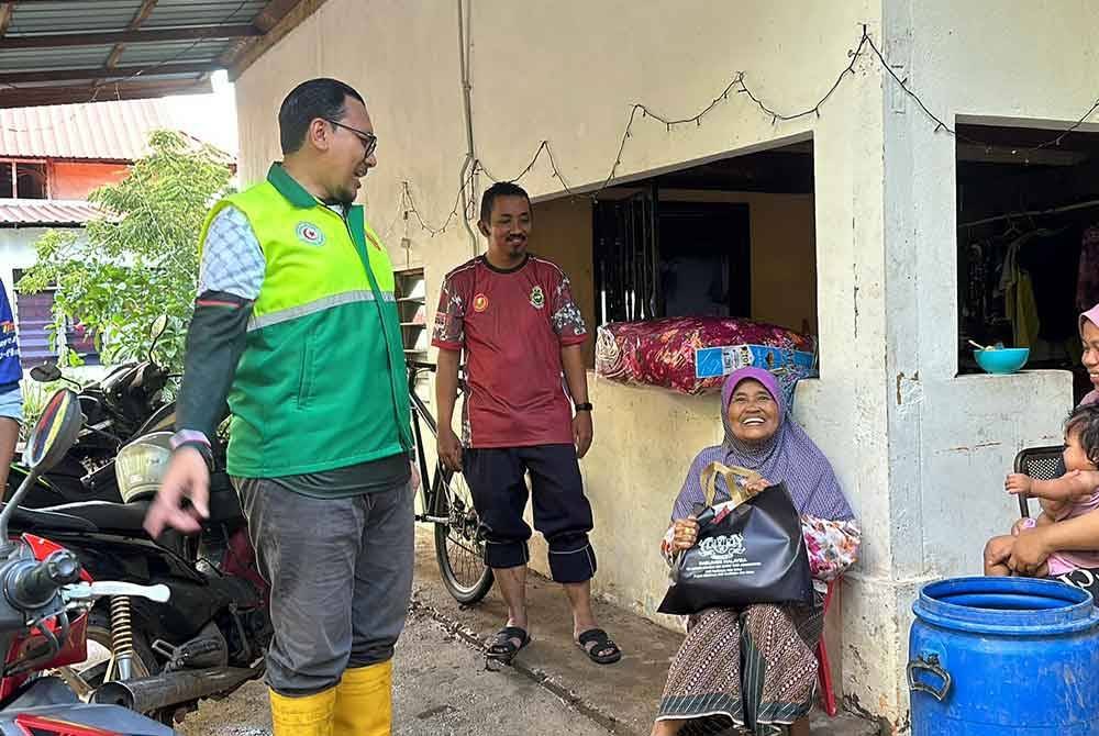
[(95, 702), (165, 723), (260, 677), (271, 637), (268, 588), (224, 471), (212, 475), (201, 534), (146, 534), (143, 522), (170, 456), (169, 438), (168, 432), (151, 433), (119, 453), (116, 481), (127, 502), (82, 501), (21, 516), (23, 531), (65, 545), (96, 578), (171, 591), (169, 605), (114, 595), (92, 609), (88, 637), (110, 659), (65, 672)]

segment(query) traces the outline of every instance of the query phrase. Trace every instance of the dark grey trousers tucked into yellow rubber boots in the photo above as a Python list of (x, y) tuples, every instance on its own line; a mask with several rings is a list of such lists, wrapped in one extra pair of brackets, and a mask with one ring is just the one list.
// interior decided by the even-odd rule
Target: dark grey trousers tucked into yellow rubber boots
[(349, 667), (390, 659), (412, 594), (409, 484), (317, 499), (262, 478), (233, 481), (271, 587), (271, 690), (311, 695), (335, 687)]

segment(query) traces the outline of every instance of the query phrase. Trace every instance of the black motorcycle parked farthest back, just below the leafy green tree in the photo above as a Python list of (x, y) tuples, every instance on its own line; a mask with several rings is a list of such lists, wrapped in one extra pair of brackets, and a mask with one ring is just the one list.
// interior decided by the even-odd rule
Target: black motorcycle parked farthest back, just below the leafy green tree
[[(31, 369), (31, 378), (37, 382), (65, 381), (76, 389), (85, 425), (65, 457), (32, 487), (23, 505), (40, 509), (119, 500), (114, 473), (119, 449), (133, 437), (170, 428), (175, 422), (175, 402), (165, 402), (163, 393), (171, 376), (153, 358), (166, 328), (166, 317), (153, 323), (153, 342), (144, 360), (116, 366), (102, 380), (85, 386), (64, 378), (53, 364)], [(25, 467), (12, 464), (4, 498), (10, 498), (26, 475)]]

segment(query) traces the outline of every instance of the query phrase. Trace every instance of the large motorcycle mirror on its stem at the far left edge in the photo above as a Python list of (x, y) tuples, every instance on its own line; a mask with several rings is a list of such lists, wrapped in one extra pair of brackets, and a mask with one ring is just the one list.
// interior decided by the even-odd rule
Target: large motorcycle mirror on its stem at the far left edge
[(3, 513), (0, 513), (0, 555), (11, 554), (8, 523), (15, 509), (38, 477), (65, 457), (65, 453), (76, 442), (82, 424), (84, 414), (80, 413), (80, 401), (76, 393), (69, 389), (60, 389), (49, 398), (26, 441), (26, 449), (23, 450), (23, 462), (30, 468), (30, 472), (4, 504)]

